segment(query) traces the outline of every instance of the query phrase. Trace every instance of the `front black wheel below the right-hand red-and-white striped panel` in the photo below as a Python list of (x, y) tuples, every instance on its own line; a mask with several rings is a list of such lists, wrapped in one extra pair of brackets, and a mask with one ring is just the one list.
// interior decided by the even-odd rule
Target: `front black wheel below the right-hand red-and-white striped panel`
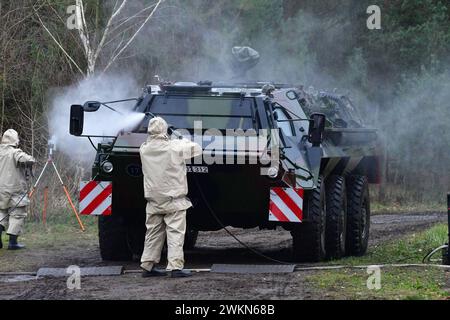
[(307, 220), (291, 231), (295, 261), (318, 262), (325, 258), (325, 206), (325, 186), (320, 178), (317, 188), (306, 194)]

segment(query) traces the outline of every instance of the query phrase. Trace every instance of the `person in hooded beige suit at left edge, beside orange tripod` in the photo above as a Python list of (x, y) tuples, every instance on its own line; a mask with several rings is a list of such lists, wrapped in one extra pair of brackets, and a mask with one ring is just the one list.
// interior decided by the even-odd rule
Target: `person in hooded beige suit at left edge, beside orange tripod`
[(25, 247), (17, 243), (23, 232), (26, 207), (30, 203), (24, 167), (33, 165), (35, 159), (18, 147), (18, 133), (13, 129), (7, 130), (0, 144), (0, 249), (3, 248), (3, 231), (9, 235), (9, 250)]

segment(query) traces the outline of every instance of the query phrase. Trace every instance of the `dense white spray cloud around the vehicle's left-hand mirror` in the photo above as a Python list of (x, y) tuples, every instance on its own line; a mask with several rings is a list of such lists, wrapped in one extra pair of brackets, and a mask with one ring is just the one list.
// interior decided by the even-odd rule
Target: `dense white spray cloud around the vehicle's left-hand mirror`
[[(49, 119), (50, 134), (55, 137), (57, 149), (71, 159), (89, 163), (95, 150), (86, 138), (69, 134), (70, 106), (86, 101), (114, 101), (138, 97), (139, 85), (126, 75), (101, 75), (59, 90), (52, 99)], [(144, 114), (132, 111), (134, 101), (112, 105), (123, 115), (101, 107), (95, 113), (85, 113), (84, 132), (89, 135), (115, 136), (121, 130), (132, 130), (144, 118)], [(94, 139), (94, 143), (98, 142)]]

